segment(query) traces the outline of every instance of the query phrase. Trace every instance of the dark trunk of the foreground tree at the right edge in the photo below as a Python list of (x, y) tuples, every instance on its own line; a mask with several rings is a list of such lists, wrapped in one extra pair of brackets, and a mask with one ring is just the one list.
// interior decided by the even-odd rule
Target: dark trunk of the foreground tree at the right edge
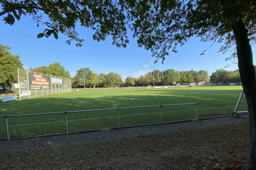
[(242, 87), (247, 101), (250, 118), (250, 161), (247, 170), (256, 170), (256, 77), (253, 65), (253, 54), (248, 30), (241, 19), (232, 25), (236, 39), (238, 68)]

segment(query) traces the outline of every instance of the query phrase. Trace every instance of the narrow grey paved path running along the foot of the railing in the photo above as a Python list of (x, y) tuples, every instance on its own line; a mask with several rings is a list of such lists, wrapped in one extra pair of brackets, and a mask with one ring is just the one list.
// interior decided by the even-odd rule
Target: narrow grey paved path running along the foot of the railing
[(38, 147), (64, 146), (77, 143), (119, 140), (129, 137), (151, 135), (159, 133), (170, 133), (175, 131), (186, 131), (214, 126), (238, 125), (248, 121), (247, 118), (216, 118), (200, 121), (172, 123), (163, 125), (142, 126), (134, 128), (122, 128), (114, 130), (101, 130), (97, 132), (86, 132), (69, 135), (38, 137), (32, 139), (0, 141), (0, 151), (33, 149)]

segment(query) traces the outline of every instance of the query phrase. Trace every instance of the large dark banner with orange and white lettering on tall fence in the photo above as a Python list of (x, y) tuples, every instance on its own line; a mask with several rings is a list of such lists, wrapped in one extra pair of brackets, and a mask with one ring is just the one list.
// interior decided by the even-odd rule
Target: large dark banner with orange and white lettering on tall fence
[(42, 90), (50, 89), (50, 76), (29, 73), (29, 89)]

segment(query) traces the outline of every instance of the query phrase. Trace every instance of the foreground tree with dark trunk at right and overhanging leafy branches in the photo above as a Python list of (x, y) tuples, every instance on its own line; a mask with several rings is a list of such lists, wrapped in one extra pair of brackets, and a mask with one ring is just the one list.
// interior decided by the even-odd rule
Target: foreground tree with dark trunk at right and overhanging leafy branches
[[(17, 13), (18, 12), (18, 13)], [(41, 14), (49, 17), (49, 22)], [(76, 22), (95, 30), (93, 39), (105, 40), (111, 35), (113, 44), (126, 47), (127, 28), (138, 38), (138, 46), (152, 51), (156, 61), (164, 62), (169, 51), (177, 52), (191, 36), (201, 41), (224, 43), (220, 52), (233, 52), (238, 58), (239, 74), (250, 113), (250, 161), (247, 169), (256, 169), (256, 77), (250, 42), (255, 43), (256, 2), (250, 0), (129, 0), (129, 1), (14, 1), (2, 3), (0, 16), (13, 25), (15, 18), (32, 15), (37, 25), (48, 26), (38, 38), (65, 33), (71, 43), (81, 46), (83, 40), (75, 32)], [(15, 17), (15, 18), (14, 18)], [(48, 21), (48, 20), (47, 20)], [(204, 54), (204, 52), (202, 53)], [(230, 59), (230, 58), (229, 58)]]

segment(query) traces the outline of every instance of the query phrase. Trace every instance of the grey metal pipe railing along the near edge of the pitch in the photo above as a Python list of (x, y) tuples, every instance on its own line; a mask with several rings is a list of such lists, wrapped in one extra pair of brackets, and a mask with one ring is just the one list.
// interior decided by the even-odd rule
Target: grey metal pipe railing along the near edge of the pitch
[[(157, 125), (157, 124), (166, 124), (166, 123), (176, 123), (176, 122), (186, 122), (186, 121), (192, 121), (192, 120), (198, 120), (198, 104), (199, 103), (184, 103), (184, 104), (171, 104), (171, 105), (154, 105), (154, 106), (138, 106), (138, 107), (122, 107), (122, 108), (111, 108), (111, 109), (95, 109), (95, 110), (79, 110), (79, 111), (64, 111), (64, 112), (49, 112), (49, 113), (34, 113), (34, 114), (16, 114), (16, 115), (5, 115), (0, 116), (0, 118), (5, 119), (5, 128), (6, 128), (6, 139), (23, 139), (23, 138), (31, 138), (31, 137), (41, 137), (41, 136), (52, 136), (52, 135), (62, 135), (62, 134), (72, 134), (72, 133), (78, 133), (78, 132), (89, 132), (89, 131), (98, 131), (103, 129), (91, 129), (91, 130), (84, 130), (84, 131), (76, 131), (76, 132), (68, 132), (68, 121), (67, 121), (67, 113), (78, 113), (78, 112), (91, 112), (91, 111), (104, 111), (104, 110), (117, 110), (117, 117), (118, 117), (118, 127), (108, 128), (108, 129), (120, 129), (125, 127), (138, 127), (138, 126), (147, 126), (147, 125)], [(171, 121), (171, 122), (163, 122), (162, 121), (162, 107), (165, 106), (181, 106), (181, 105), (196, 105), (196, 119), (188, 119), (188, 120), (178, 120), (178, 121)], [(120, 126), (120, 115), (119, 111), (122, 109), (134, 109), (134, 108), (149, 108), (149, 107), (159, 107), (159, 123), (150, 123), (150, 124), (141, 124), (141, 125), (131, 125), (131, 126)], [(8, 132), (8, 120), (7, 118), (10, 117), (18, 117), (18, 116), (35, 116), (35, 115), (46, 115), (46, 114), (61, 114), (64, 113), (65, 115), (65, 125), (66, 125), (66, 132), (65, 133), (53, 133), (53, 134), (45, 134), (45, 135), (37, 135), (37, 136), (24, 136), (24, 137), (9, 137)], [(1, 139), (1, 140), (6, 140)]]

